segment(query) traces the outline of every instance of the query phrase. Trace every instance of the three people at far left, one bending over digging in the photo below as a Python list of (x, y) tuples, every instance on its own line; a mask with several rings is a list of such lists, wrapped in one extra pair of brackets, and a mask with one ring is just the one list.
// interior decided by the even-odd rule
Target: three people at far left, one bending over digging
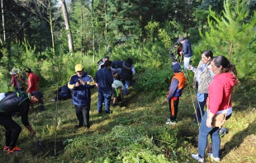
[(21, 126), (12, 119), (12, 114), (19, 112), (21, 115), (21, 122), (28, 129), (31, 136), (36, 134), (36, 131), (31, 127), (28, 121), (29, 109), (43, 102), (43, 94), (38, 91), (37, 82), (39, 77), (36, 73), (31, 72), (31, 68), (25, 68), (24, 72), (27, 75), (27, 89), (25, 90), (26, 79), (21, 74), (18, 68), (12, 68), (10, 74), (12, 80), (8, 86), (13, 85), (15, 92), (8, 91), (0, 94), (0, 124), (5, 128), (5, 146), (3, 151), (8, 154), (18, 153), (23, 151), (21, 147), (17, 147), (17, 139), (21, 133)]

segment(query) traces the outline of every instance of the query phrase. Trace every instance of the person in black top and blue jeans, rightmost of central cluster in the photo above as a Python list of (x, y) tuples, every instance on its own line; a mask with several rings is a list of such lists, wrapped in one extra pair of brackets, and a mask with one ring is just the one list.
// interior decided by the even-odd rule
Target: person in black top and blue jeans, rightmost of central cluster
[(121, 80), (125, 82), (124, 87), (124, 95), (127, 95), (127, 89), (130, 85), (130, 81), (132, 81), (132, 76), (135, 74), (135, 67), (132, 64), (132, 59), (127, 58), (123, 63), (123, 67), (121, 68)]

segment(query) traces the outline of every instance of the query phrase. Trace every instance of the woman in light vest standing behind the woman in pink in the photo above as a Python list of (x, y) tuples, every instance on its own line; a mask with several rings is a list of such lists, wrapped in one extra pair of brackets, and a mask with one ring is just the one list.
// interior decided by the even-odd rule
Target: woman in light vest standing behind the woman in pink
[(207, 68), (207, 66), (211, 63), (211, 58), (213, 58), (211, 50), (205, 50), (201, 54), (201, 61), (199, 62), (197, 68), (193, 68), (192, 65), (187, 67), (187, 69), (195, 73), (193, 87), (197, 88), (197, 112), (194, 114), (193, 123), (201, 123), (201, 118), (205, 113), (204, 106), (208, 97), (208, 86), (212, 80), (212, 77), (214, 76), (211, 70)]

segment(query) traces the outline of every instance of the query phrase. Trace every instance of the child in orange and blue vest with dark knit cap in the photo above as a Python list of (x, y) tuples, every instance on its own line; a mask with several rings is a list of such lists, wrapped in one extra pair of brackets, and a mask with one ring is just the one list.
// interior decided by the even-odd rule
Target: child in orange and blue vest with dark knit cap
[(186, 77), (182, 72), (180, 63), (173, 63), (173, 73), (171, 84), (168, 87), (167, 102), (170, 110), (170, 119), (167, 120), (166, 124), (176, 124), (177, 114), (178, 114), (178, 101), (179, 97), (182, 95), (183, 88), (186, 83)]

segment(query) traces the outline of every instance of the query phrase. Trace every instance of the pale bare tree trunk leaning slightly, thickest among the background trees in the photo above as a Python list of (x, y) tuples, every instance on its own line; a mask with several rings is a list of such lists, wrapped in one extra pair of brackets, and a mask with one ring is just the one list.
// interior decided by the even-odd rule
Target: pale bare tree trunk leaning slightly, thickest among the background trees
[(69, 14), (68, 14), (68, 11), (67, 11), (65, 0), (59, 0), (59, 2), (61, 3), (61, 9), (62, 9), (63, 16), (64, 16), (66, 30), (68, 30), (69, 52), (72, 55), (72, 53), (73, 53), (73, 38), (72, 38), (71, 29), (70, 29), (70, 26), (69, 26)]

